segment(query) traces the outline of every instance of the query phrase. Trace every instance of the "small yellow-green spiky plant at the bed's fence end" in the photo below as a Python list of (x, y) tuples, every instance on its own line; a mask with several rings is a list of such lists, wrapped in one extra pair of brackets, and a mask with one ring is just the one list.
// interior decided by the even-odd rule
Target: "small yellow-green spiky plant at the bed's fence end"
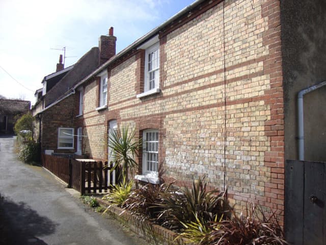
[(102, 199), (117, 206), (123, 206), (130, 195), (132, 185), (133, 181), (127, 181), (126, 178), (124, 178), (122, 183), (112, 186), (112, 192), (105, 195)]

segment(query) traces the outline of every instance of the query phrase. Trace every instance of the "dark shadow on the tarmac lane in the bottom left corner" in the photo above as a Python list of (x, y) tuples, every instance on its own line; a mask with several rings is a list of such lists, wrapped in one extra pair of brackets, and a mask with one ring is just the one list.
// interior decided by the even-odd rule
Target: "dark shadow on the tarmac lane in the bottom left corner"
[(36, 236), (54, 233), (57, 225), (25, 203), (14, 203), (0, 194), (0, 245), (46, 245)]

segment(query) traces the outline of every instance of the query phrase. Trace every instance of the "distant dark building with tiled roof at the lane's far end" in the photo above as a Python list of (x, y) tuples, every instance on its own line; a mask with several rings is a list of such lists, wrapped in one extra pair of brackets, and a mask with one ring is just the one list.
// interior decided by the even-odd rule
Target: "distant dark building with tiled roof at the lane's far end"
[(30, 101), (0, 99), (0, 134), (13, 134), (16, 120), (30, 109)]

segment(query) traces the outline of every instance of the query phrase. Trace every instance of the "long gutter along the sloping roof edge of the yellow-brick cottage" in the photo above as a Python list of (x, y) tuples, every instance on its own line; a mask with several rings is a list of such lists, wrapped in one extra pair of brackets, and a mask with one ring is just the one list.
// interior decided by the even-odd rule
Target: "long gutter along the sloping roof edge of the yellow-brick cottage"
[(153, 30), (151, 30), (150, 32), (148, 32), (147, 34), (145, 34), (143, 37), (141, 37), (138, 40), (134, 41), (132, 44), (130, 44), (129, 46), (127, 46), (126, 48), (124, 48), (122, 51), (120, 51), (117, 55), (115, 55), (114, 57), (112, 57), (110, 60), (106, 61), (104, 64), (102, 64), (96, 70), (94, 70), (90, 75), (88, 75), (82, 81), (80, 81), (79, 83), (77, 83), (73, 88), (76, 89), (77, 87), (79, 87), (80, 85), (82, 85), (83, 83), (85, 83), (87, 80), (89, 80), (93, 76), (97, 75), (105, 67), (107, 67), (111, 63), (115, 62), (117, 59), (119, 59), (122, 56), (124, 56), (130, 50), (132, 50), (133, 48), (141, 45), (142, 43), (144, 43), (145, 41), (147, 41), (147, 39), (150, 39), (151, 37), (155, 36), (162, 28), (168, 26), (168, 24), (170, 24), (171, 22), (173, 22), (174, 20), (176, 20), (177, 18), (179, 18), (183, 14), (187, 13), (188, 11), (192, 10), (197, 5), (199, 5), (200, 3), (205, 2), (205, 1), (206, 0), (197, 0), (194, 3), (192, 3), (191, 5), (188, 5), (187, 7), (183, 8), (178, 13), (176, 13), (175, 15), (173, 15), (171, 18), (169, 18), (168, 20), (166, 20), (164, 23), (160, 24), (158, 27), (154, 28)]

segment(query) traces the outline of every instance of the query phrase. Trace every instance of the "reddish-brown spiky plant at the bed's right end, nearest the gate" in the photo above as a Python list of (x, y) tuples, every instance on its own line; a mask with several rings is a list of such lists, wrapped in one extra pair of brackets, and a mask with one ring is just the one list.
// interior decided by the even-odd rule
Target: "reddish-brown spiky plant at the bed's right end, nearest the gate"
[(283, 237), (275, 213), (267, 218), (259, 206), (251, 205), (247, 208), (247, 216), (242, 213), (238, 216), (232, 211), (231, 219), (213, 224), (212, 231), (206, 235), (206, 242), (199, 245), (288, 244)]

